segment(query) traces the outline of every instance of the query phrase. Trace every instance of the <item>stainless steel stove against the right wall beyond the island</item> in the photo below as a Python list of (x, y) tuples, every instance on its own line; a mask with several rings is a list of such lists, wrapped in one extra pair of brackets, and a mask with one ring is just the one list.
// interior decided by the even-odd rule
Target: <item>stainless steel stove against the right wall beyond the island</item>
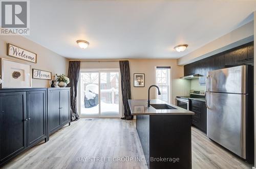
[(176, 96), (176, 106), (183, 109), (189, 109), (189, 99), (198, 98), (205, 100), (204, 90), (190, 90), (188, 96)]

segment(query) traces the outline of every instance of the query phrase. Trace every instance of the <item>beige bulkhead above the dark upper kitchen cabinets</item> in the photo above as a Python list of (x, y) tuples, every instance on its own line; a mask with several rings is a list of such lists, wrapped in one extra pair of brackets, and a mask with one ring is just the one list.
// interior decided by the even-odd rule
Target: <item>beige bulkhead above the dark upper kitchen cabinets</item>
[(253, 34), (253, 21), (251, 21), (246, 25), (233, 30), (230, 33), (214, 41), (211, 41), (199, 49), (177, 59), (177, 64), (185, 65), (221, 53), (247, 42), (251, 42), (253, 41)]

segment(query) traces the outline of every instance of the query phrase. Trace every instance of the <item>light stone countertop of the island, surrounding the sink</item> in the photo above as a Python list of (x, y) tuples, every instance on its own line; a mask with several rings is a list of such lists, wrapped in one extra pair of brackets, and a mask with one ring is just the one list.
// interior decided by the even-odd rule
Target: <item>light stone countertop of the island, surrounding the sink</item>
[(167, 104), (172, 106), (176, 109), (155, 109), (154, 107), (150, 106), (147, 107), (147, 100), (144, 99), (136, 99), (136, 100), (129, 100), (129, 106), (132, 112), (132, 115), (194, 115), (195, 113), (181, 107), (168, 104), (163, 102), (159, 99), (151, 99), (151, 104)]

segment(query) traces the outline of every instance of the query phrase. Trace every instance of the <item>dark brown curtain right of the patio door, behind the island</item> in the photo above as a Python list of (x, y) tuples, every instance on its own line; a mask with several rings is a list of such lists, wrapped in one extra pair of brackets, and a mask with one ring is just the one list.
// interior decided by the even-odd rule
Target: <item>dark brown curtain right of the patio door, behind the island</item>
[(123, 110), (124, 117), (122, 119), (133, 119), (128, 100), (131, 99), (131, 80), (130, 80), (130, 67), (129, 61), (119, 61), (121, 73), (121, 89), (123, 97)]

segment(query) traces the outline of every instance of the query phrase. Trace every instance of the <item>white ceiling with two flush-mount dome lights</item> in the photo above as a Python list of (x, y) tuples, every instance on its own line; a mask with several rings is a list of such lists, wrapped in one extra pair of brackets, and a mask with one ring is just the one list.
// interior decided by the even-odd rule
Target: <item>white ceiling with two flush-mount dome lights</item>
[[(180, 58), (253, 19), (256, 1), (32, 0), (28, 39), (67, 58)], [(90, 42), (80, 49), (76, 40)], [(173, 47), (187, 43), (185, 52)]]

